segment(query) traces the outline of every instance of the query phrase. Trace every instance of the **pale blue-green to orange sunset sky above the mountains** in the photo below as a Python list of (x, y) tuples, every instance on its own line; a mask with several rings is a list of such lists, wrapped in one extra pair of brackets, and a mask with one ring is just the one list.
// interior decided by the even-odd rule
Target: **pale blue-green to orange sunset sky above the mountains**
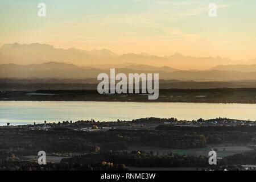
[[(209, 3), (217, 17), (210, 17)], [(38, 4), (46, 4), (46, 17)], [(0, 0), (0, 46), (46, 43), (115, 53), (256, 57), (255, 0)]]

